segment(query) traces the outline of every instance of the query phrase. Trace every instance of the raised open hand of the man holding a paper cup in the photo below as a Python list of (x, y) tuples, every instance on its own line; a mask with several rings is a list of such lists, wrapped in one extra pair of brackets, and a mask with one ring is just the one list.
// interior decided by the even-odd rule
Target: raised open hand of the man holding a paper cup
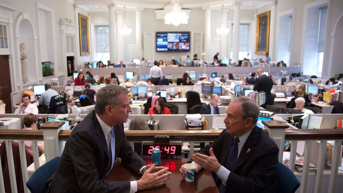
[(219, 170), (219, 168), (222, 166), (215, 155), (213, 154), (212, 147), (210, 148), (210, 157), (203, 155), (203, 154), (193, 154), (193, 160), (196, 164), (203, 167), (204, 169), (211, 170), (215, 173)]

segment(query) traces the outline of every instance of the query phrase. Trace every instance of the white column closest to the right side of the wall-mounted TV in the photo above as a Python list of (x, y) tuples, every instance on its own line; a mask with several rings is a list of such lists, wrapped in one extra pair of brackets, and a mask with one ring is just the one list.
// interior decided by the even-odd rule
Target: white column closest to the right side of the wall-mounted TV
[(212, 60), (210, 56), (210, 41), (211, 41), (211, 10), (212, 7), (203, 7), (205, 10), (205, 38), (204, 38), (204, 53), (206, 53), (204, 60)]

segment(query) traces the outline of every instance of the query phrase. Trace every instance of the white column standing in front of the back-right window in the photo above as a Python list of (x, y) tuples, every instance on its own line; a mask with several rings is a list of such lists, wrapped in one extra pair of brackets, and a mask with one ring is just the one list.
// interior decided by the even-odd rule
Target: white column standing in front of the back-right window
[(232, 45), (232, 61), (238, 65), (238, 54), (239, 54), (239, 9), (240, 2), (235, 1), (234, 3), (234, 35)]

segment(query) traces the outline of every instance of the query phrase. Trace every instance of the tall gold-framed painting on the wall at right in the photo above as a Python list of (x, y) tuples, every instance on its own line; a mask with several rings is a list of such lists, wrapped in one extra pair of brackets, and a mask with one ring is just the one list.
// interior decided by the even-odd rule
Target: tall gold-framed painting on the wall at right
[(255, 54), (265, 55), (269, 52), (270, 11), (256, 15), (256, 51)]

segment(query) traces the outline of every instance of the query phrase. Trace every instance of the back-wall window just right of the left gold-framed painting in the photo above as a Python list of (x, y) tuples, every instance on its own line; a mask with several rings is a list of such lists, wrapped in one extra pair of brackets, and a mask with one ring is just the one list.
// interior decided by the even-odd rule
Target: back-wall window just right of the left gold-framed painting
[(95, 31), (95, 59), (107, 64), (109, 60), (109, 27), (108, 25), (97, 25)]

